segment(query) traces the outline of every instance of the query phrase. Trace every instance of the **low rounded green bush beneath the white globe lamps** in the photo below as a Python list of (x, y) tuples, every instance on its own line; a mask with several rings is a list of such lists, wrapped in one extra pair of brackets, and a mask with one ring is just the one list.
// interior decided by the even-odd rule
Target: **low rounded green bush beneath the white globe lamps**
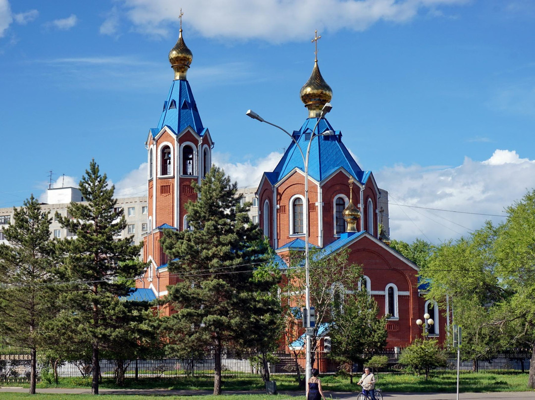
[(433, 368), (447, 365), (447, 356), (438, 341), (417, 339), (403, 349), (399, 363), (408, 366), (417, 374), (425, 373), (427, 380)]

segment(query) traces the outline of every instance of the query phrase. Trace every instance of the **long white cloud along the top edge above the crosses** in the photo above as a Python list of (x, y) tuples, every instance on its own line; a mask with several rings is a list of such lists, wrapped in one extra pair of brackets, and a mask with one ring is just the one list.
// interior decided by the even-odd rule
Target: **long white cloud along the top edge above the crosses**
[(184, 23), (206, 37), (302, 40), (314, 33), (339, 29), (365, 30), (378, 21), (407, 22), (421, 11), (464, 4), (469, 0), (123, 0), (127, 18), (141, 32), (166, 35), (170, 22)]

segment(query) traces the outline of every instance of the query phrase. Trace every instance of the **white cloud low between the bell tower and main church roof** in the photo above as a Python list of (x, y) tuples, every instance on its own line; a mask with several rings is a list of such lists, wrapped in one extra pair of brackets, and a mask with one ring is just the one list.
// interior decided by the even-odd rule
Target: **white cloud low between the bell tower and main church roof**
[(282, 157), (282, 153), (273, 151), (264, 158), (247, 160), (241, 163), (230, 163), (228, 155), (224, 153), (212, 153), (212, 161), (215, 165), (225, 170), (232, 181), (238, 182), (239, 187), (256, 186), (266, 171), (273, 171)]

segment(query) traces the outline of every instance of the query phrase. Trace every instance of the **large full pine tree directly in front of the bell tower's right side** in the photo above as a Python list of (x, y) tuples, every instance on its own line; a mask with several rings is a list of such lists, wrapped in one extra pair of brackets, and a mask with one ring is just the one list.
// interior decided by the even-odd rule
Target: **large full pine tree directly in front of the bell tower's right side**
[(221, 352), (250, 348), (258, 334), (251, 318), (270, 315), (258, 297), (269, 294), (276, 283), (272, 275), (256, 275), (255, 267), (266, 260), (261, 230), (251, 224), (248, 205), (235, 197), (236, 183), (223, 170), (212, 167), (201, 186), (192, 181), (199, 195), (186, 211), (193, 230), (166, 230), (163, 248), (172, 260), (169, 271), (181, 282), (169, 286), (167, 302), (177, 311), (165, 325), (170, 351), (212, 351), (213, 394), (221, 394)]

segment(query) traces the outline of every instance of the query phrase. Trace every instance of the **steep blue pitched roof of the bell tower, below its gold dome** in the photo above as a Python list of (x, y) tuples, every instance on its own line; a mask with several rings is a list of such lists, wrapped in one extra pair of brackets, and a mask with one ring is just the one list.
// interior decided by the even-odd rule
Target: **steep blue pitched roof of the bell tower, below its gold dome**
[(155, 136), (154, 132), (158, 134), (165, 125), (171, 127), (173, 132), (177, 134), (188, 126), (192, 127), (200, 136), (205, 132), (195, 98), (193, 97), (192, 88), (187, 80), (173, 81), (167, 99), (164, 102), (158, 126), (152, 128), (150, 132)]

